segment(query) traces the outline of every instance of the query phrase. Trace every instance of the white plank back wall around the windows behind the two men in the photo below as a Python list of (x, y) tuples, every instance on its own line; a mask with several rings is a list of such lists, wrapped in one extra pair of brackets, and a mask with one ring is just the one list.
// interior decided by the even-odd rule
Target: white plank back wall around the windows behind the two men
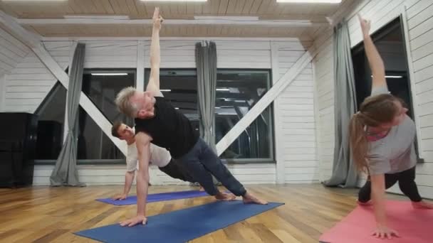
[[(161, 68), (195, 68), (194, 45), (197, 41), (161, 41)], [(84, 68), (149, 68), (149, 41), (85, 41)], [(140, 48), (140, 43), (143, 48)], [(71, 58), (70, 41), (44, 42), (62, 68)], [(298, 41), (216, 41), (218, 68), (278, 68), (283, 75), (306, 51), (311, 43)], [(272, 67), (271, 45), (278, 45), (278, 55)], [(143, 60), (143, 61), (141, 61)], [(275, 73), (275, 72), (274, 72)], [(43, 66), (33, 53), (28, 53), (6, 76), (6, 104), (9, 111), (34, 112), (36, 107), (55, 84), (56, 78)], [(142, 82), (142, 80), (137, 80)], [(19, 86), (14, 84), (19, 83)], [(12, 92), (13, 95), (12, 95)], [(14, 103), (16, 97), (23, 97)], [(279, 108), (275, 109), (276, 119), (281, 121), (283, 151), (281, 166), (283, 183), (318, 182), (318, 159), (315, 146), (315, 118), (313, 104), (312, 66), (301, 72), (296, 80), (278, 98)], [(16, 105), (12, 105), (16, 104)], [(245, 184), (276, 183), (276, 164), (229, 165), (234, 176)], [(36, 166), (35, 185), (48, 185), (53, 166)], [(169, 178), (152, 167), (151, 183), (185, 184)], [(124, 182), (125, 166), (78, 166), (78, 175), (88, 185), (121, 185)]]

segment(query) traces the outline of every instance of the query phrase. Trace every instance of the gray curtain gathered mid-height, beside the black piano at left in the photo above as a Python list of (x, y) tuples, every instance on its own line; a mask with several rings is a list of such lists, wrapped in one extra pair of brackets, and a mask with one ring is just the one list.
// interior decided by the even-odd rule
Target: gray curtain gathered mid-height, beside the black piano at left
[(51, 186), (84, 186), (78, 181), (77, 143), (78, 143), (78, 107), (81, 84), (83, 83), (83, 63), (85, 44), (78, 43), (69, 69), (68, 85), (68, 135), (51, 173)]

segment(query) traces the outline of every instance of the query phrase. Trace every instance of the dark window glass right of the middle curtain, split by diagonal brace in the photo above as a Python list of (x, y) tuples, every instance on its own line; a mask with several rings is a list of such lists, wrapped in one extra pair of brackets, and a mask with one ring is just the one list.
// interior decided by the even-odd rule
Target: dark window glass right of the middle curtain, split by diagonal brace
[[(219, 141), (268, 91), (268, 70), (219, 70), (216, 81), (215, 133)], [(221, 154), (221, 158), (272, 158), (271, 107)]]

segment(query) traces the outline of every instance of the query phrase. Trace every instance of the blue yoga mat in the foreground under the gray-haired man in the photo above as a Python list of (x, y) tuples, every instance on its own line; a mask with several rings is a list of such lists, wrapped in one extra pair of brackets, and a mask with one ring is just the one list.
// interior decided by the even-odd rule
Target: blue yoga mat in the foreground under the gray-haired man
[(100, 242), (187, 242), (241, 220), (271, 210), (283, 203), (244, 204), (241, 200), (212, 202), (147, 218), (147, 225), (121, 227), (118, 224), (76, 232)]

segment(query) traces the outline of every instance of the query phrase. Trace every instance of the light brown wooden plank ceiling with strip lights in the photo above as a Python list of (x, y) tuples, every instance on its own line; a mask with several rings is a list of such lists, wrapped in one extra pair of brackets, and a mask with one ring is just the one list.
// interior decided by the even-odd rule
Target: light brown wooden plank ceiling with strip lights
[[(344, 0), (343, 0), (344, 2)], [(257, 16), (260, 20), (305, 20), (325, 23), (340, 4), (283, 4), (276, 0), (208, 0), (206, 2), (147, 2), (140, 0), (0, 0), (0, 9), (16, 18), (64, 18), (64, 16), (128, 16), (149, 19), (159, 6), (166, 19), (194, 19), (194, 16)], [(151, 26), (138, 24), (43, 23), (22, 24), (41, 36), (150, 36)], [(318, 26), (173, 25), (161, 36), (301, 37), (308, 39)]]

